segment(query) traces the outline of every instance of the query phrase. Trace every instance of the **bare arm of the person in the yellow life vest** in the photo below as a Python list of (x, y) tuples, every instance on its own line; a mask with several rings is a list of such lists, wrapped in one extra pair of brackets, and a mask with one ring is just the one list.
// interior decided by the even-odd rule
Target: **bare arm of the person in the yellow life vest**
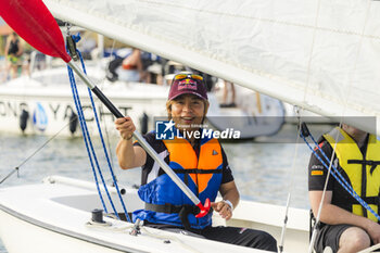
[[(322, 191), (309, 191), (308, 197), (313, 214), (317, 217), (319, 203), (322, 198)], [(332, 191), (326, 191), (324, 205), (320, 211), (320, 222), (329, 225), (349, 224), (356, 227), (360, 227), (368, 232), (375, 243), (380, 242), (380, 225), (351, 212), (347, 212), (337, 205), (331, 204)]]

